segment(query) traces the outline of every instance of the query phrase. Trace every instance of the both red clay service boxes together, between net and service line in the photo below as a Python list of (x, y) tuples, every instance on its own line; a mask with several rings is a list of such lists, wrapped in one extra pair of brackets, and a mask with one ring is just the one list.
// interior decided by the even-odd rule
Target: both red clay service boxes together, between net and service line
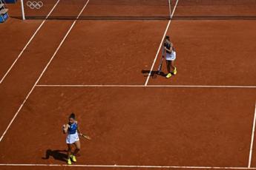
[[(145, 84), (148, 73), (141, 71), (151, 68), (165, 22), (119, 24), (79, 22), (39, 84)], [(161, 27), (157, 31), (151, 24)], [(149, 84), (255, 86), (255, 27), (254, 21), (173, 21), (168, 35), (177, 50), (178, 74), (151, 78)], [(128, 39), (122, 42), (124, 32)]]

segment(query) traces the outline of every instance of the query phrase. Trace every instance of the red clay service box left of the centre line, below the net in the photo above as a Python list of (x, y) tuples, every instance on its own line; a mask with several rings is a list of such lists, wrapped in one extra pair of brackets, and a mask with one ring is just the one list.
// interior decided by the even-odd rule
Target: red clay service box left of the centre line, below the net
[(151, 69), (166, 26), (78, 21), (39, 84), (145, 84), (142, 69)]

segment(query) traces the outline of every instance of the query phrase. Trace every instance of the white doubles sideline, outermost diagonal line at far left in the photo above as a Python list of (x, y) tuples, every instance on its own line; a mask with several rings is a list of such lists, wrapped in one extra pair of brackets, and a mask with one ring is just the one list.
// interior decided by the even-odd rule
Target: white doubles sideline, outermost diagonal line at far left
[(42, 23), (39, 25), (39, 27), (36, 29), (36, 32), (33, 33), (32, 37), (30, 38), (30, 40), (27, 42), (27, 44), (25, 45), (25, 47), (23, 48), (23, 50), (19, 53), (18, 57), (16, 58), (16, 60), (13, 62), (13, 64), (10, 66), (10, 68), (7, 70), (7, 72), (5, 72), (3, 78), (1, 78), (0, 84), (4, 81), (4, 78), (9, 74), (10, 70), (13, 68), (13, 66), (16, 64), (16, 62), (19, 60), (19, 58), (22, 56), (24, 50), (26, 50), (27, 46), (30, 44), (30, 42), (33, 40), (33, 38), (36, 36), (36, 34), (39, 32), (39, 30), (41, 29), (41, 27), (43, 26), (43, 24), (45, 24), (45, 21), (47, 20), (47, 18), (50, 16), (50, 14), (53, 12), (53, 10), (55, 9), (55, 7), (57, 6), (57, 4), (59, 4), (58, 0), (56, 2), (56, 4), (53, 6), (53, 9), (50, 10), (50, 13), (48, 13), (48, 15), (46, 16), (45, 20), (42, 21)]

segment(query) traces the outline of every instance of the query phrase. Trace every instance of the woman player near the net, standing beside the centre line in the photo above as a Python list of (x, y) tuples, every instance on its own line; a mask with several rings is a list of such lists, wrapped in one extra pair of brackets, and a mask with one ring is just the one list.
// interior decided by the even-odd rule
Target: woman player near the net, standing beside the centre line
[(168, 71), (166, 78), (171, 78), (171, 70), (173, 71), (174, 75), (177, 75), (177, 68), (174, 66), (176, 52), (168, 35), (165, 36), (165, 42), (163, 44), (163, 58), (166, 60), (166, 67)]

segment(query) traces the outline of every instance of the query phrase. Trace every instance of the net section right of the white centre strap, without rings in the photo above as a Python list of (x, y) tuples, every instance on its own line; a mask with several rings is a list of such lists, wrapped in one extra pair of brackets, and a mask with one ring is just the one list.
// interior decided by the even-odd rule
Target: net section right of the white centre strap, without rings
[(180, 0), (178, 20), (255, 20), (256, 0)]

